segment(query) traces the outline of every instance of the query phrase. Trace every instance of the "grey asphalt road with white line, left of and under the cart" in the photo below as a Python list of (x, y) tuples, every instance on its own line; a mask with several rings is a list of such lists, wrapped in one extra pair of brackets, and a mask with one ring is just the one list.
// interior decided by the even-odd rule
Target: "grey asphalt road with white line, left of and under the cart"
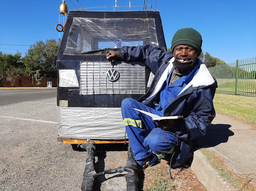
[[(0, 190), (81, 190), (87, 152), (57, 141), (56, 95), (0, 90)], [(96, 146), (96, 172), (126, 164), (125, 146), (106, 147)], [(124, 175), (98, 178), (95, 190), (126, 190)]]

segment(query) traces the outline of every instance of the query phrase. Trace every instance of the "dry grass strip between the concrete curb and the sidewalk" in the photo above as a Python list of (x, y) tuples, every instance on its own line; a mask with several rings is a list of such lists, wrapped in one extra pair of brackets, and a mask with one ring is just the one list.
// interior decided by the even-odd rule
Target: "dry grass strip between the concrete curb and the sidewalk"
[(239, 177), (224, 164), (224, 159), (217, 153), (209, 151), (205, 148), (200, 149), (201, 153), (207, 158), (210, 164), (217, 170), (219, 175), (226, 181), (230, 182), (234, 187), (241, 191), (254, 191), (256, 185), (251, 184), (250, 180)]

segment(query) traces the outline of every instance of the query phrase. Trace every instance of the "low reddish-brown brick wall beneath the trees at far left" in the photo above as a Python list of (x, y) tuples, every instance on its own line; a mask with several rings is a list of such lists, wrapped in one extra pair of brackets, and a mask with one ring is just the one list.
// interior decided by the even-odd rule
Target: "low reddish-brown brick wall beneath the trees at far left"
[[(11, 81), (7, 81), (6, 78), (9, 76), (3, 76), (3, 87), (12, 87)], [(57, 87), (57, 78), (43, 77), (39, 87), (47, 87), (47, 82), (52, 82), (52, 87)], [(0, 84), (1, 87), (1, 84)], [(37, 81), (32, 76), (18, 76), (15, 81), (14, 87), (38, 87)]]

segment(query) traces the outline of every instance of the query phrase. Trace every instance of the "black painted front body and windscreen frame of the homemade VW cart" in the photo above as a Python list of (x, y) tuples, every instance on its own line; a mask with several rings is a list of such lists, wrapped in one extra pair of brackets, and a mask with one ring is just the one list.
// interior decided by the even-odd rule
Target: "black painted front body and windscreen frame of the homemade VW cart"
[[(154, 18), (156, 27), (156, 36), (158, 46), (167, 50), (163, 34), (160, 14), (157, 11), (122, 11), (122, 12), (103, 12), (103, 11), (70, 11), (63, 34), (59, 53), (56, 59), (55, 67), (59, 70), (75, 70), (78, 83), (80, 85), (80, 62), (108, 62), (106, 52), (97, 54), (63, 54), (69, 36), (70, 27), (74, 17), (82, 18)], [(116, 63), (118, 64), (118, 63)], [(128, 63), (127, 63), (128, 64)], [(145, 89), (148, 90), (147, 81), (150, 70), (145, 67)], [(125, 98), (139, 99), (143, 94), (80, 94), (79, 87), (59, 87), (59, 78), (57, 83), (57, 105), (59, 100), (68, 100), (68, 107), (120, 107)]]

